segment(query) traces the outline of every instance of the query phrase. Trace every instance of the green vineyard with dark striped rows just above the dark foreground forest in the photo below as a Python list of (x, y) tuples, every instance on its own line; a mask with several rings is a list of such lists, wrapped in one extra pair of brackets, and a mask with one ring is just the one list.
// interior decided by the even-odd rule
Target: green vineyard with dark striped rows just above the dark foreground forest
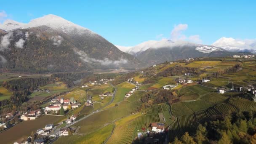
[[(239, 110), (248, 110), (256, 107), (256, 103), (243, 99), (239, 95), (230, 98), (218, 94), (208, 94), (202, 97), (205, 101), (179, 102), (172, 104), (171, 111), (177, 117), (169, 127), (168, 135), (173, 141), (175, 137), (180, 138), (186, 131), (195, 131), (198, 123), (204, 123), (212, 115), (219, 115)], [(228, 99), (225, 101), (225, 99)], [(214, 105), (212, 105), (214, 104)]]

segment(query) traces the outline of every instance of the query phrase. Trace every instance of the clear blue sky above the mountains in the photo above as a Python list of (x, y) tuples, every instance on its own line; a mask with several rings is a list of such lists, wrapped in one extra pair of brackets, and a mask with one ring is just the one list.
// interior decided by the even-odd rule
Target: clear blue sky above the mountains
[(0, 12), (7, 16), (0, 16), (0, 22), (13, 19), (28, 23), (54, 14), (124, 46), (173, 38), (175, 26), (180, 30), (176, 33), (179, 38), (203, 44), (212, 44), (220, 37), (256, 39), (256, 1), (237, 1), (3, 0)]

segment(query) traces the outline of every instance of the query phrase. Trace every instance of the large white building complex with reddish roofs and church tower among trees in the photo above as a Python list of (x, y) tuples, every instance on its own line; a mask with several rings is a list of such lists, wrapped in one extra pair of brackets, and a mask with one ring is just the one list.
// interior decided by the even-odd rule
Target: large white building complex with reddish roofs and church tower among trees
[(63, 107), (64, 110), (75, 109), (81, 105), (80, 103), (77, 103), (73, 97), (70, 99), (63, 99), (63, 98), (59, 97), (57, 99), (52, 99), (51, 102), (53, 104), (51, 104), (48, 107), (45, 107), (46, 113), (49, 111), (57, 112), (61, 109), (61, 107)]

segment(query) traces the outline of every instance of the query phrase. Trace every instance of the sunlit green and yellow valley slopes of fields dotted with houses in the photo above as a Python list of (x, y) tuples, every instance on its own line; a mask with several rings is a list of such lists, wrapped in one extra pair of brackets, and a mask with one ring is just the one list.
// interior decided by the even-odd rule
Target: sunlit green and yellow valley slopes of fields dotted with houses
[[(243, 59), (237, 61), (230, 57), (219, 60), (217, 58), (183, 59), (128, 74), (113, 75), (104, 72), (84, 75), (80, 83), (72, 87), (61, 81), (60, 77), (53, 75), (5, 73), (2, 75), (6, 75), (7, 78), (3, 79), (3, 82), (38, 79), (38, 76), (51, 77), (51, 79), (42, 79), (50, 81), (46, 85), (35, 87), (35, 90), (27, 96), (28, 105), (41, 101), (39, 108), (43, 110), (42, 115), (35, 120), (15, 122), (13, 127), (1, 132), (0, 137), (5, 137), (9, 135), (8, 133), (16, 133), (13, 132), (16, 128), (24, 129), (24, 126), (30, 125), (26, 132), (19, 131), (20, 134), (17, 133), (15, 139), (13, 137), (5, 141), (12, 143), (26, 138), (32, 132), (36, 133), (38, 128), (46, 124), (53, 123), (55, 128), (48, 135), (38, 134), (37, 138), (42, 137), (56, 144), (61, 144), (63, 141), (77, 144), (143, 143), (148, 135), (162, 142), (174, 141), (175, 138), (181, 139), (187, 131), (189, 134), (195, 133), (197, 125), (216, 117), (254, 109), (256, 107), (253, 93), (256, 91), (253, 86), (256, 84), (255, 68), (256, 62), (251, 59), (246, 61)], [(54, 74), (61, 77), (63, 75), (66, 74)], [(80, 78), (78, 74), (69, 77)], [(2, 89), (8, 91), (5, 85), (2, 85)], [(166, 85), (174, 86), (169, 88)], [(224, 90), (224, 93), (220, 90)], [(133, 93), (128, 95), (131, 91)], [(8, 94), (11, 95), (11, 92)], [(59, 111), (56, 111), (57, 113), (48, 111), (44, 114), (45, 108), (52, 104), (52, 100), (61, 97), (74, 99), (81, 105), (78, 108), (67, 109), (64, 117), (57, 116), (60, 115)], [(21, 110), (21, 105), (17, 107), (22, 114), (24, 111)], [(30, 111), (35, 108), (37, 107), (33, 105), (28, 107)], [(2, 113), (4, 115), (5, 112)], [(18, 118), (17, 112), (15, 114), (13, 117)], [(77, 118), (72, 123), (66, 124), (69, 117), (74, 115)], [(46, 117), (51, 119), (43, 120)], [(41, 123), (41, 120), (44, 122)], [(11, 121), (12, 119), (6, 123)], [(163, 123), (164, 133), (154, 135), (150, 127), (152, 123)], [(76, 128), (76, 131), (70, 132), (68, 136), (61, 136), (61, 131), (68, 127)], [(56, 138), (49, 138), (51, 133)], [(94, 140), (95, 136), (99, 137), (97, 141)]]

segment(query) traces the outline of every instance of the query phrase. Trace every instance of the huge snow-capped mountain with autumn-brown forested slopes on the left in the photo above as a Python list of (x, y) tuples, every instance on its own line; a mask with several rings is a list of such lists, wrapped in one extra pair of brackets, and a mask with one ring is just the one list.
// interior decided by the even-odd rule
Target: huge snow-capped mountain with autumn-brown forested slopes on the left
[(28, 24), (8, 20), (0, 29), (2, 70), (70, 72), (139, 64), (100, 35), (59, 16), (43, 16)]

